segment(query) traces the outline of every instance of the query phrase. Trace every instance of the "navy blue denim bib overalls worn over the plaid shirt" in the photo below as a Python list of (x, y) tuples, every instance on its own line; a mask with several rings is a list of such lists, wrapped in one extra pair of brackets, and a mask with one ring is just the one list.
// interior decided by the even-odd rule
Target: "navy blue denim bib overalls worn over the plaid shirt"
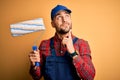
[[(73, 40), (73, 43), (78, 38)], [(72, 58), (66, 51), (64, 56), (56, 56), (53, 38), (50, 40), (51, 56), (46, 57), (44, 65), (45, 80), (80, 80), (72, 63)]]

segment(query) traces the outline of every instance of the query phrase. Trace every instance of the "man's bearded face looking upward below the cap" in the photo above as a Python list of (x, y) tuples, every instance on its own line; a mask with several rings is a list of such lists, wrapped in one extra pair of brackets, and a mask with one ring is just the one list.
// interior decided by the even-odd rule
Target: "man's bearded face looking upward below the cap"
[(55, 27), (59, 34), (66, 34), (72, 29), (71, 16), (66, 11), (59, 11), (52, 21), (52, 26)]

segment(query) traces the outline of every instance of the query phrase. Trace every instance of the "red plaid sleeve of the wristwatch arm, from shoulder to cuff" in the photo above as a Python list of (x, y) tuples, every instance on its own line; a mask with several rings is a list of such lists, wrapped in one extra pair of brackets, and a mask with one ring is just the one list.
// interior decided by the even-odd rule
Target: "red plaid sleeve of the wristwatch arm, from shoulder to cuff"
[(78, 44), (78, 56), (73, 58), (73, 64), (82, 79), (93, 80), (95, 76), (95, 68), (92, 63), (89, 45), (84, 40), (82, 40)]

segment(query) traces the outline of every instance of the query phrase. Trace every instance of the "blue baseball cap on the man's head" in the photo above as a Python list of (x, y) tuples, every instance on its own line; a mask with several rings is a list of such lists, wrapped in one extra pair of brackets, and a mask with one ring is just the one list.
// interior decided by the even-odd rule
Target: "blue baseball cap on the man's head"
[(68, 13), (71, 13), (72, 11), (70, 9), (68, 9), (66, 6), (63, 5), (57, 5), (56, 7), (54, 7), (51, 11), (51, 20), (53, 20), (54, 16), (56, 15), (57, 12), (59, 12), (60, 10), (65, 10)]

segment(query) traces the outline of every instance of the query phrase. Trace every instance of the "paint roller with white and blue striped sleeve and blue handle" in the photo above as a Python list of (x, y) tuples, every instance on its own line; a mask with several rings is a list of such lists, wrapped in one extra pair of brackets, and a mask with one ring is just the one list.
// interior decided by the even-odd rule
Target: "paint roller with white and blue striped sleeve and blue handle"
[[(15, 23), (15, 24), (11, 24), (10, 30), (11, 30), (12, 36), (15, 37), (15, 36), (22, 36), (24, 34), (33, 33), (37, 31), (44, 31), (45, 26), (43, 23), (43, 18), (37, 18), (33, 20), (26, 20), (26, 21)], [(42, 35), (39, 35), (39, 37), (35, 39), (34, 45), (32, 46), (33, 50), (37, 50), (36, 42), (41, 36)], [(35, 66), (39, 66), (39, 65), (40, 65), (39, 62), (35, 62)]]

